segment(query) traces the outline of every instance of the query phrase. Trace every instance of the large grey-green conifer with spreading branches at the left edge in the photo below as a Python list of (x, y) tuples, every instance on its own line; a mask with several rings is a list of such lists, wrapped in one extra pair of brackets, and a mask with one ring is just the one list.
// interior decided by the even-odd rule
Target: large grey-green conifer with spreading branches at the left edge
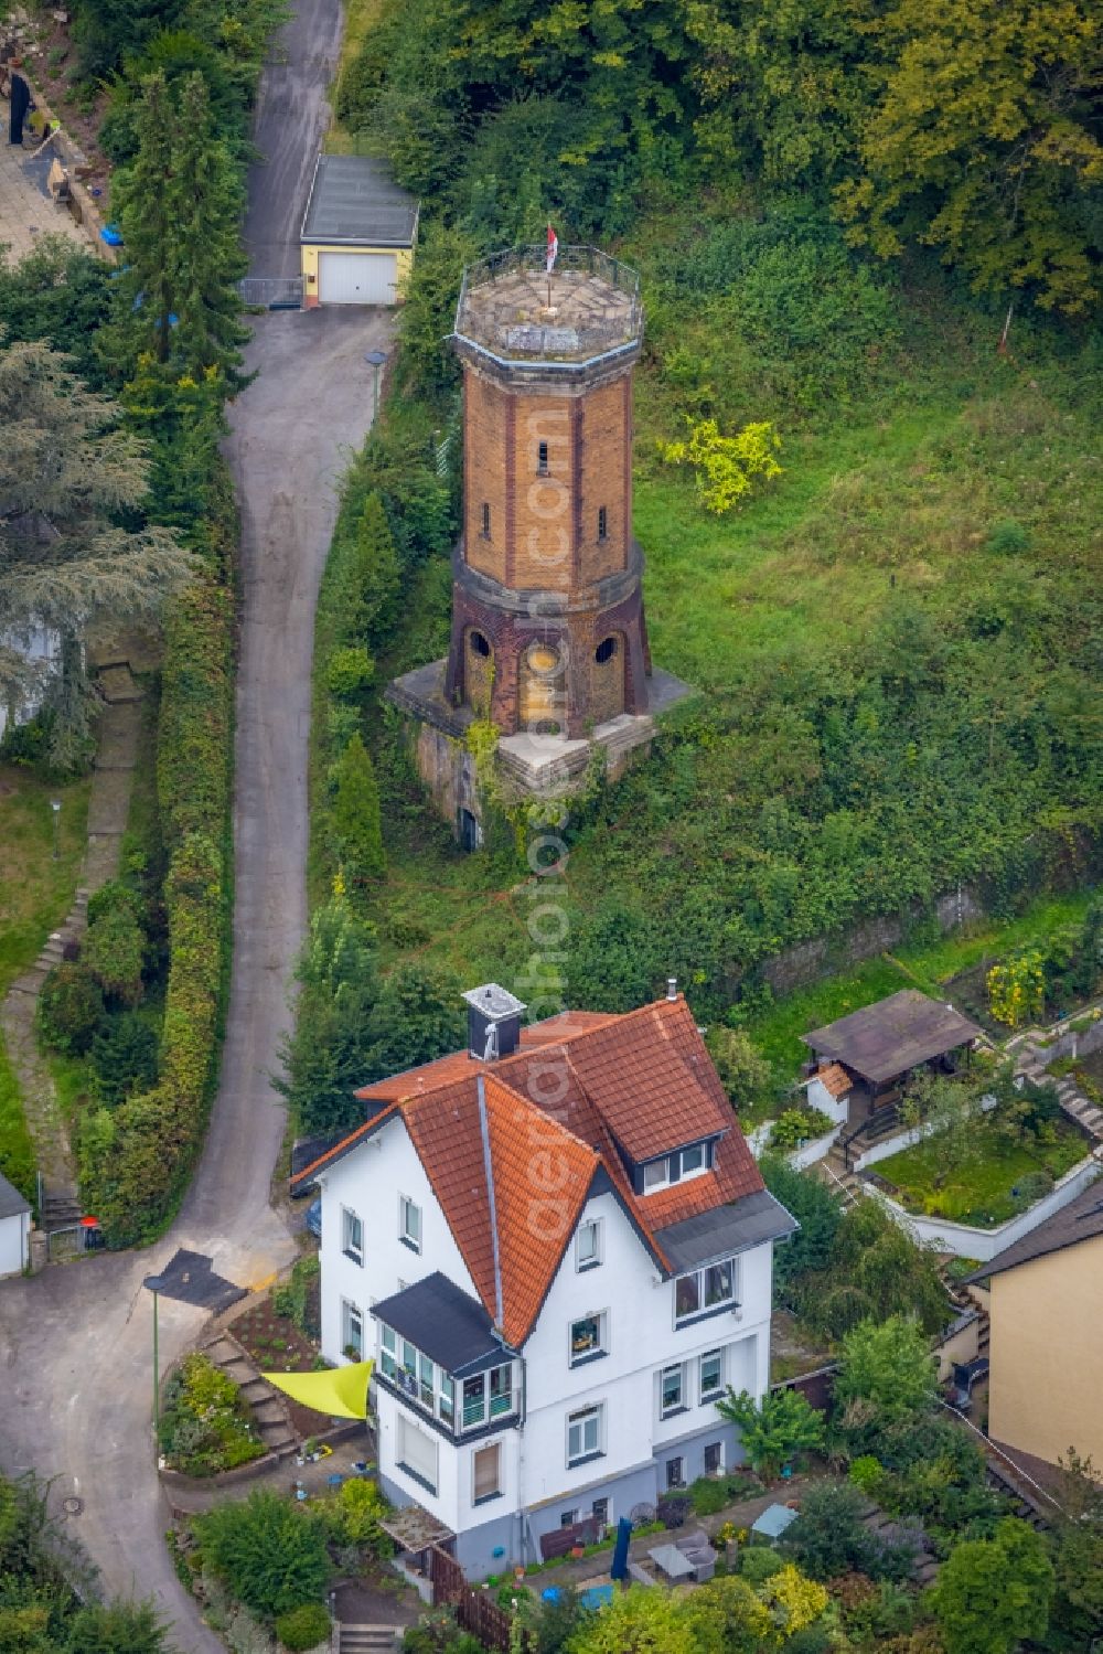
[[(88, 739), (88, 627), (157, 612), (190, 572), (170, 529), (142, 526), (146, 448), (117, 418), (45, 346), (0, 351), (0, 700), (45, 695), (58, 767)], [(51, 668), (26, 652), (41, 629)]]

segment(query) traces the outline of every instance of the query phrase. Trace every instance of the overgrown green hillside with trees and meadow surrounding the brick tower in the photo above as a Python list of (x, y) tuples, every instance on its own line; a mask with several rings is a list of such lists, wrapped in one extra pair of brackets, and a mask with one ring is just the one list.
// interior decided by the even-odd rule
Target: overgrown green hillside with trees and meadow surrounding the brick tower
[[(458, 422), (460, 270), (547, 220), (643, 278), (648, 625), (703, 691), (572, 809), (571, 1001), (623, 1009), (673, 971), (746, 1016), (800, 939), (923, 923), (959, 882), (1007, 915), (1095, 878), (1098, 50), (1077, 5), (384, 5), (337, 112), (423, 235), (334, 569), (379, 495), (412, 594), (359, 700), (394, 958), (529, 953), (513, 834), (481, 870), (427, 835), (379, 688), (446, 647), (458, 476), (430, 438)], [(663, 455), (752, 420), (782, 471), (718, 516)]]

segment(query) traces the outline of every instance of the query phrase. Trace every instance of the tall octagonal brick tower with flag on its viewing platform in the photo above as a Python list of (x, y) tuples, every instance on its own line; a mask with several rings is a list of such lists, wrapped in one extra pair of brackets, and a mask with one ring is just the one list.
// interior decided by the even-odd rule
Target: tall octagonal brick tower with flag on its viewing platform
[(471, 789), (438, 734), (455, 743), (491, 719), (503, 779), (562, 792), (594, 746), (622, 767), (650, 741), (652, 713), (686, 693), (652, 670), (632, 538), (642, 339), (638, 276), (592, 246), (561, 248), (551, 276), (542, 246), (465, 273), (451, 336), (463, 364), (451, 645), (446, 662), (390, 686), (417, 719), (418, 767), (463, 837)]

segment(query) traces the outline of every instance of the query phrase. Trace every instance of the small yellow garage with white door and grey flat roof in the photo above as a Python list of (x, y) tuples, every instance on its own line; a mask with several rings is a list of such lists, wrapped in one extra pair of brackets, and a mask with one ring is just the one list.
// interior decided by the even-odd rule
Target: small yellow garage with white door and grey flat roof
[(319, 155), (299, 237), (303, 303), (400, 304), (418, 203), (367, 155)]

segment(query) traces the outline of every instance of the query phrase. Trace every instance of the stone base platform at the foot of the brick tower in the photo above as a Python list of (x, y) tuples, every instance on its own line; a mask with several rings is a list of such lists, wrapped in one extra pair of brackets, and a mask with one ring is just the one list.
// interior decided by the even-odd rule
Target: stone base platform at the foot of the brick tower
[[(483, 801), (475, 756), (466, 736), (475, 711), (445, 696), (448, 662), (435, 660), (395, 678), (387, 700), (403, 713), (417, 771), (438, 814), (470, 849), (480, 842)], [(498, 741), (496, 781), (506, 801), (566, 797), (584, 786), (590, 759), (604, 756), (605, 774), (617, 779), (655, 736), (655, 716), (695, 691), (670, 672), (653, 670), (645, 680), (647, 711), (620, 713), (577, 739), (549, 734), (506, 734)]]

